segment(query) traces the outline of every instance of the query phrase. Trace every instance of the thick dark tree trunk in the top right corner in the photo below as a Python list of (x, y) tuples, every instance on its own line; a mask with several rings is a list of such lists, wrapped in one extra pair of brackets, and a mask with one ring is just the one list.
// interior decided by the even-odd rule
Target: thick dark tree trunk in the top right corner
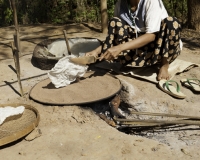
[(188, 27), (200, 31), (200, 0), (188, 0)]

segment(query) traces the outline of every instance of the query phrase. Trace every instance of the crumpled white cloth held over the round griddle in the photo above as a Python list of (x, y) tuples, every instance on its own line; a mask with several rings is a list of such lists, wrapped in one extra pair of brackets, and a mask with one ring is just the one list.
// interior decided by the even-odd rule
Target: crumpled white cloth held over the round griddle
[(56, 88), (65, 87), (74, 82), (77, 77), (83, 77), (88, 69), (87, 65), (78, 65), (69, 60), (74, 55), (65, 56), (52, 68), (48, 77)]

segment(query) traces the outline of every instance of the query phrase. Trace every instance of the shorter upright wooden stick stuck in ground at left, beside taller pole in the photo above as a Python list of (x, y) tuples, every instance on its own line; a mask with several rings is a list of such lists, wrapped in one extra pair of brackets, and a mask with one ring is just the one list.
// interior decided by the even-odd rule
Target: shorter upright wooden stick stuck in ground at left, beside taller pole
[(23, 89), (22, 89), (22, 83), (21, 83), (21, 79), (20, 79), (19, 54), (18, 54), (18, 50), (14, 46), (13, 42), (11, 42), (11, 47), (12, 47), (13, 58), (14, 58), (14, 62), (15, 62), (15, 68), (16, 68), (16, 72), (17, 72), (17, 80), (18, 80), (18, 83), (19, 83), (20, 93), (21, 93), (21, 96), (23, 97), (24, 92), (23, 92)]

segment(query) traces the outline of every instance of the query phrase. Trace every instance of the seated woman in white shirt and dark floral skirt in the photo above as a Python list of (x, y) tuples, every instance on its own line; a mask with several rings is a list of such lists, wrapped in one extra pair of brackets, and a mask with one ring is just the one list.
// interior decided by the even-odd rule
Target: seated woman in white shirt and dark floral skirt
[(160, 64), (158, 80), (169, 79), (169, 64), (180, 54), (180, 24), (162, 0), (118, 0), (103, 45), (86, 53), (100, 61), (148, 67)]

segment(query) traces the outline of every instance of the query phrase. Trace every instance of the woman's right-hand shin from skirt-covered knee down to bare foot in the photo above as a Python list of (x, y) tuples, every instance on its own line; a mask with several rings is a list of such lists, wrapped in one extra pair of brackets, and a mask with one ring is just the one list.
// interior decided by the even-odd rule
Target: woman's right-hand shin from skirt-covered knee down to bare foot
[(169, 79), (168, 68), (180, 54), (180, 24), (176, 18), (168, 17), (163, 20), (156, 48), (160, 49), (161, 66), (158, 80)]

